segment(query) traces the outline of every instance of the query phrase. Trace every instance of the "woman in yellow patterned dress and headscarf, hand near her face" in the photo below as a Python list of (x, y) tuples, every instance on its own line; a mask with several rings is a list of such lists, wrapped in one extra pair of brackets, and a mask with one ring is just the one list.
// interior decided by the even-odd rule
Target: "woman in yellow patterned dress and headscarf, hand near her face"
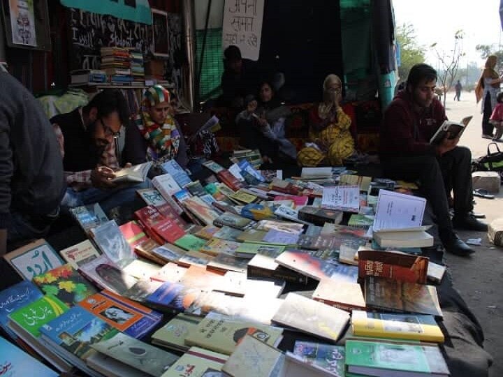
[(298, 152), (301, 166), (342, 165), (345, 158), (355, 153), (355, 143), (349, 127), (351, 118), (342, 111), (342, 82), (337, 75), (323, 81), (323, 102), (309, 114), (311, 142)]

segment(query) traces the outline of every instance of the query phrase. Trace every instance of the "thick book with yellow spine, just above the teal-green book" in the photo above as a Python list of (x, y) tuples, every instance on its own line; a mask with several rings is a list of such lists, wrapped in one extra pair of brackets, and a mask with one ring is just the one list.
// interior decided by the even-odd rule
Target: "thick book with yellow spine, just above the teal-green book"
[(427, 314), (377, 313), (353, 310), (353, 334), (358, 337), (393, 338), (442, 343), (444, 334)]

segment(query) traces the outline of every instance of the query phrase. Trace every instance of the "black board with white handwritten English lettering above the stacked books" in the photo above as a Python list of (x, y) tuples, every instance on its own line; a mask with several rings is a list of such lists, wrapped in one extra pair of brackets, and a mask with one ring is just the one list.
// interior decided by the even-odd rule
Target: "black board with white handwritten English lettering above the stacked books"
[(101, 47), (152, 50), (152, 26), (75, 8), (68, 10), (71, 30), (71, 70), (98, 69)]

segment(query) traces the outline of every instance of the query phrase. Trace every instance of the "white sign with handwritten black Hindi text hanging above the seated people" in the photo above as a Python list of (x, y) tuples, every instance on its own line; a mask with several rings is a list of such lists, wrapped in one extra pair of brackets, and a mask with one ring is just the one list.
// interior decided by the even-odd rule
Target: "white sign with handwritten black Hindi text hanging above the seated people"
[(226, 0), (222, 48), (236, 45), (245, 59), (258, 60), (264, 0)]

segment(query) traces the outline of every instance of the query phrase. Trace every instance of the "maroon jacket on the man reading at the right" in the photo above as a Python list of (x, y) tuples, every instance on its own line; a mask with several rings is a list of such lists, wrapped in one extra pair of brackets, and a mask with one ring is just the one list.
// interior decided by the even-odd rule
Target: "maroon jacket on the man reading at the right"
[(430, 139), (446, 119), (444, 106), (437, 98), (433, 98), (429, 108), (421, 109), (418, 113), (407, 91), (400, 91), (384, 112), (381, 156), (436, 154)]

